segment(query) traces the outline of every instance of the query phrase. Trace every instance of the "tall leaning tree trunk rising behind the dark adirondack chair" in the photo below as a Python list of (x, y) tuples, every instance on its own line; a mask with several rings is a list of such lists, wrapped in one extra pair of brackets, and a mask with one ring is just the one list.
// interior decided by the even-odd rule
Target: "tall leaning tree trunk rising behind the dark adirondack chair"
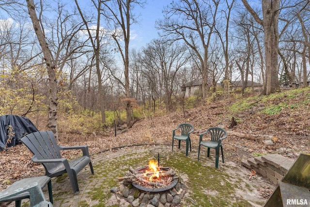
[(44, 54), (44, 60), (47, 65), (48, 83), (49, 83), (49, 106), (48, 106), (48, 127), (54, 133), (56, 140), (58, 138), (57, 128), (57, 80), (56, 80), (56, 66), (53, 64), (51, 52), (47, 46), (45, 35), (40, 26), (39, 19), (35, 12), (33, 0), (26, 0), (29, 15), (32, 21), (33, 29), (38, 38), (42, 52)]

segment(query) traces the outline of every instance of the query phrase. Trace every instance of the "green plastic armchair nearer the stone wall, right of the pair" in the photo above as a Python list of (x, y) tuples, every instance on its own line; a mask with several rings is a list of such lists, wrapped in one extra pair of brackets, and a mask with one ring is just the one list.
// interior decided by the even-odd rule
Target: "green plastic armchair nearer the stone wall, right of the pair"
[[(209, 141), (203, 141), (202, 138), (211, 137)], [(210, 148), (215, 149), (215, 167), (218, 168), (219, 148), (222, 152), (222, 160), (224, 163), (222, 140), (227, 138), (227, 132), (220, 127), (208, 128), (204, 133), (199, 135), (198, 160), (200, 154), (200, 146), (208, 147), (207, 156), (210, 157)]]

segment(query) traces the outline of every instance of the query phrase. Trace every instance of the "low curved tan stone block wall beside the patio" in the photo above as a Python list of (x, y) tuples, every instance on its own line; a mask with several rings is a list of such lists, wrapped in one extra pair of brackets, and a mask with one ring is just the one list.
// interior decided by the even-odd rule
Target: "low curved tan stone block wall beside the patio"
[(293, 163), (294, 159), (278, 154), (263, 155), (241, 162), (243, 166), (255, 170), (258, 174), (269, 178), (275, 184), (279, 184), (279, 181), (282, 180)]

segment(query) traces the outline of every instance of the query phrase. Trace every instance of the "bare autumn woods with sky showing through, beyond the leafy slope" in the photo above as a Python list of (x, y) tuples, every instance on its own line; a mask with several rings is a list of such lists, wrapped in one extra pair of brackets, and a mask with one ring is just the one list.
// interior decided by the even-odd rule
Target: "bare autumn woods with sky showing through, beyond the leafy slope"
[[(91, 124), (100, 131), (114, 120), (131, 127), (144, 109), (232, 96), (234, 80), (243, 95), (248, 81), (262, 83), (263, 95), (307, 86), (309, 0), (174, 0), (158, 16), (158, 38), (132, 48), (130, 28), (146, 4), (0, 0), (0, 115), (48, 114), (57, 137), (59, 112), (72, 125), (99, 116)], [(181, 88), (193, 80), (201, 90), (185, 100)]]

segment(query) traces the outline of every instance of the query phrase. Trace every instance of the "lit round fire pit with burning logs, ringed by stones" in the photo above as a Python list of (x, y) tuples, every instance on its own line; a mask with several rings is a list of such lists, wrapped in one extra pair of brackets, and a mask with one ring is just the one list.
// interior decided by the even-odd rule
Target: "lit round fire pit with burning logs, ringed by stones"
[[(134, 207), (179, 206), (186, 194), (185, 185), (179, 182), (179, 176), (172, 167), (158, 166), (158, 162), (150, 160), (144, 167), (134, 169), (129, 167), (120, 187), (112, 188), (115, 194), (109, 199), (109, 205), (123, 204)], [(124, 205), (126, 206), (126, 205)]]

